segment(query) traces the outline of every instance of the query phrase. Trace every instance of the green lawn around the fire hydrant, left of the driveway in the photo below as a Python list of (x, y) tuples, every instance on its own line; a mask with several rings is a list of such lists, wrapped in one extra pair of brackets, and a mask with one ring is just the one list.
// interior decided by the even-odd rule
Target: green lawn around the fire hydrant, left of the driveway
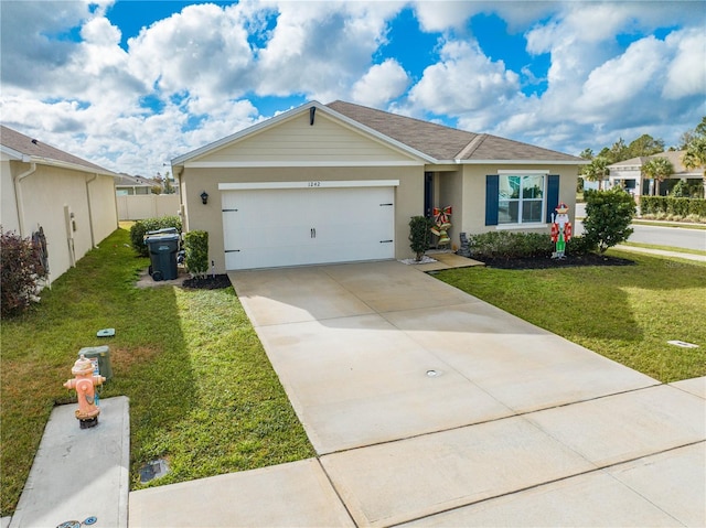
[[(62, 384), (84, 346), (110, 346), (101, 398), (130, 398), (132, 489), (314, 454), (233, 289), (139, 290), (148, 259), (128, 243), (118, 229), (31, 312), (2, 322), (2, 515), (17, 507), (52, 408), (75, 401)], [(105, 327), (116, 336), (96, 337)], [(141, 485), (154, 457), (170, 473)]]

